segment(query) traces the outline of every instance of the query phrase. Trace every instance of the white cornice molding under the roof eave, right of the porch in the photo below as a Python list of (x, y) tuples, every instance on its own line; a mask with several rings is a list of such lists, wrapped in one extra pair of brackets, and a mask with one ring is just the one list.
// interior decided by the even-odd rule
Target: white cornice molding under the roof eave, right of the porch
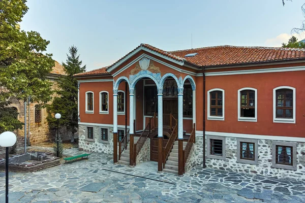
[(258, 74), (258, 73), (277, 73), (287, 71), (305, 71), (305, 66), (291, 66), (291, 67), (276, 67), (272, 69), (255, 69), (255, 70), (241, 70), (241, 71), (223, 71), (205, 73), (205, 76), (228, 76), (240, 74)]

